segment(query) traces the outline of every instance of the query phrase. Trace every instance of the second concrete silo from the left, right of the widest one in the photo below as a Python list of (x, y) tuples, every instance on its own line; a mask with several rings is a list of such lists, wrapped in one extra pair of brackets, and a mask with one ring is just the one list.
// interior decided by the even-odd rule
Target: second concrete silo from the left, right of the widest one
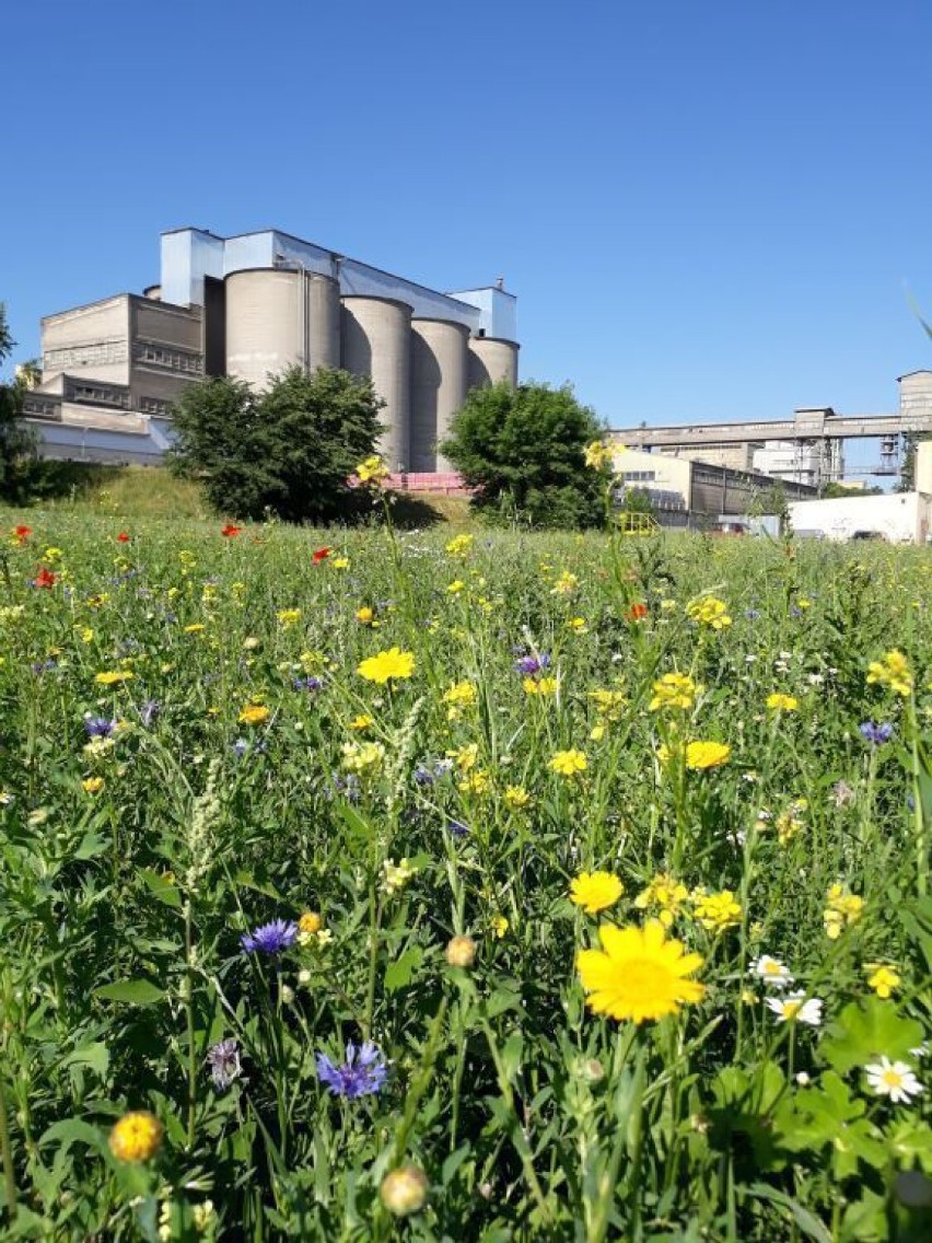
[(340, 352), (343, 368), (370, 375), (385, 403), (378, 452), (389, 470), (410, 470), (411, 308), (395, 298), (343, 298)]

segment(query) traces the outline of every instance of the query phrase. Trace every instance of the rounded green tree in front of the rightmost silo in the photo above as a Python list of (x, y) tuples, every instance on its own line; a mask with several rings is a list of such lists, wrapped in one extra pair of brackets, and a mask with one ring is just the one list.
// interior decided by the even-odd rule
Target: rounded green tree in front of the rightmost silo
[(585, 447), (603, 430), (569, 385), (502, 382), (468, 394), (441, 452), (491, 518), (593, 527), (604, 521), (608, 471), (587, 466)]

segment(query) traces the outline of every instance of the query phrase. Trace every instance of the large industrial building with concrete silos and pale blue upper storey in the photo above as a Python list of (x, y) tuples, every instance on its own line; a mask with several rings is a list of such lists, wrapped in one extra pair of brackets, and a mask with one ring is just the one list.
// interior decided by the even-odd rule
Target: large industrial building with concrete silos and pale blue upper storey
[(513, 293), (440, 293), (278, 230), (162, 235), (160, 281), (42, 319), (42, 380), (25, 415), (50, 457), (158, 462), (171, 404), (205, 375), (262, 387), (298, 365), (372, 377), (393, 471), (444, 472), (437, 451), (471, 388), (517, 384)]

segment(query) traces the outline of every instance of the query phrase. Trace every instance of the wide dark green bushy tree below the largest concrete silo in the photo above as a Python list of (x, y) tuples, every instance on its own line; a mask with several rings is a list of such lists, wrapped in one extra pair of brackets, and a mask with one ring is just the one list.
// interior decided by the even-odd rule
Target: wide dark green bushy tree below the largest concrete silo
[(208, 379), (174, 408), (169, 464), (200, 479), (220, 513), (326, 522), (352, 506), (345, 481), (373, 452), (383, 405), (372, 380), (327, 367), (292, 367), (262, 393)]

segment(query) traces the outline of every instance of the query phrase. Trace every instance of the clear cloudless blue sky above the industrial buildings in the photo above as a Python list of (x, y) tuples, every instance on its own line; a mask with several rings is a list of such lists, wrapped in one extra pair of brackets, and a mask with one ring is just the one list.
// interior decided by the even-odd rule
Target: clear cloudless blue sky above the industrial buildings
[[(928, 0), (12, 0), (0, 300), (277, 226), (518, 295), (523, 378), (610, 425), (893, 411), (932, 367)], [(14, 137), (10, 137), (14, 135)]]

